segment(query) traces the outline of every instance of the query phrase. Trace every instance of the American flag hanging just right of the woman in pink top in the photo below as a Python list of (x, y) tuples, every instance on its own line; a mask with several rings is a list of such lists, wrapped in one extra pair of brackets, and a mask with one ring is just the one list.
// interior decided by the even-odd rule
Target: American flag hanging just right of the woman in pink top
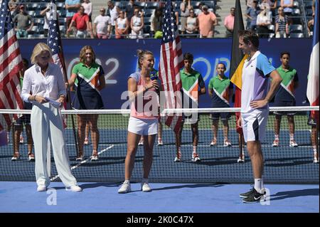
[[(166, 109), (175, 109), (181, 107), (179, 106), (181, 102), (177, 102), (176, 94), (180, 93), (182, 88), (180, 69), (183, 67), (183, 56), (181, 41), (178, 36), (178, 27), (176, 26), (174, 7), (171, 5), (171, 1), (166, 1), (162, 33), (159, 77), (162, 81), (166, 97)], [(178, 132), (181, 127), (181, 120), (181, 114), (168, 115), (165, 118), (166, 125), (171, 127), (174, 132)]]

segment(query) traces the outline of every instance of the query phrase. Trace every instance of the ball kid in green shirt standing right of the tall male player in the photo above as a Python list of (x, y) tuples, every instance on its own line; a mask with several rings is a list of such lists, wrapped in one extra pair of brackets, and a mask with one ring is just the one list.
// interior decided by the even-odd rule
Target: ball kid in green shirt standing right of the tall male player
[[(290, 53), (285, 51), (280, 54), (281, 65), (277, 68), (279, 75), (282, 78), (281, 86), (274, 97), (274, 106), (291, 107), (296, 105), (294, 90), (298, 88), (298, 73), (297, 70), (289, 65)], [(274, 112), (274, 142), (273, 147), (279, 147), (279, 133), (282, 115), (287, 115), (289, 125), (289, 147), (298, 147), (294, 140), (294, 113), (295, 112)]]

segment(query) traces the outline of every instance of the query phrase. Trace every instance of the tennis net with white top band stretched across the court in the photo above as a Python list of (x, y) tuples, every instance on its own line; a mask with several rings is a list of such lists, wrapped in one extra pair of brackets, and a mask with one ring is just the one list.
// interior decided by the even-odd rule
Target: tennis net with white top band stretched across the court
[[(264, 180), (267, 183), (319, 183), (319, 164), (314, 163), (314, 149), (319, 152), (319, 131), (308, 124), (309, 111), (319, 107), (270, 107), (262, 152), (265, 161)], [(172, 110), (167, 110), (172, 111)], [(174, 110), (192, 113), (198, 121), (197, 152), (201, 162), (192, 162), (193, 136), (190, 120), (183, 125), (181, 162), (174, 162), (176, 157), (176, 139), (174, 132), (163, 124), (163, 145), (154, 144), (153, 164), (149, 180), (153, 182), (226, 182), (247, 183), (252, 181), (252, 167), (246, 147), (242, 157), (238, 132), (235, 130), (235, 112), (238, 108), (210, 108)], [(217, 113), (230, 113), (228, 120), (228, 142), (225, 142), (224, 121), (218, 120), (216, 144), (213, 141), (213, 122)], [(294, 140), (296, 146), (290, 146), (290, 133), (287, 115), (282, 116), (279, 131), (279, 145), (274, 147), (274, 112), (296, 112), (294, 115)], [(30, 110), (0, 110), (0, 114), (27, 114)], [(129, 110), (63, 110), (65, 118), (65, 142), (70, 157), (73, 174), (78, 181), (123, 181), (124, 159), (127, 154), (127, 125)], [(84, 145), (84, 159), (76, 161), (78, 156), (75, 145), (75, 132), (78, 130), (78, 115), (88, 117), (98, 115), (97, 125), (100, 132), (98, 145), (99, 159), (91, 161), (92, 137), (89, 133), (88, 144)], [(73, 116), (73, 117), (72, 117)], [(73, 130), (73, 122), (75, 130)], [(215, 122), (214, 122), (215, 123)], [(9, 143), (0, 147), (1, 181), (35, 181), (34, 162), (28, 161), (28, 142), (26, 130), (23, 130), (23, 142), (19, 144), (20, 158), (11, 161), (14, 154), (13, 125), (9, 134)], [(313, 133), (315, 132), (315, 133)], [(313, 139), (312, 139), (313, 138)], [(19, 139), (20, 138), (16, 138)], [(312, 141), (311, 141), (312, 140)], [(214, 144), (211, 144), (214, 142)], [(33, 152), (34, 153), (34, 152)], [(144, 151), (137, 149), (132, 181), (142, 179)], [(318, 156), (319, 160), (319, 156)], [(50, 176), (52, 181), (60, 180), (55, 169), (53, 154), (50, 157)]]

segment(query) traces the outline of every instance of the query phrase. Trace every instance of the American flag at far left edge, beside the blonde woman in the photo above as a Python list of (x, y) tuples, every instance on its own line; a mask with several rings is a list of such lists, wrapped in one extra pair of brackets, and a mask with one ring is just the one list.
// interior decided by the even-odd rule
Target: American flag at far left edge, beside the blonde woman
[[(0, 5), (0, 109), (23, 109), (18, 78), (22, 67), (8, 1), (3, 0)], [(10, 115), (0, 115), (0, 132), (5, 125), (11, 125), (11, 120)]]

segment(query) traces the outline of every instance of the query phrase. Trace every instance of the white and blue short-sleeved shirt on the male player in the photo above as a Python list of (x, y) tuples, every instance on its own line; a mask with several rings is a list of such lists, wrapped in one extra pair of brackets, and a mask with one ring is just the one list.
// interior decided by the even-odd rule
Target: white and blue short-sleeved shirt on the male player
[(266, 105), (261, 109), (253, 109), (250, 102), (265, 99), (269, 91), (269, 75), (275, 70), (267, 56), (255, 52), (250, 60), (245, 60), (242, 68), (242, 88), (241, 88), (241, 112), (262, 111), (268, 109)]

